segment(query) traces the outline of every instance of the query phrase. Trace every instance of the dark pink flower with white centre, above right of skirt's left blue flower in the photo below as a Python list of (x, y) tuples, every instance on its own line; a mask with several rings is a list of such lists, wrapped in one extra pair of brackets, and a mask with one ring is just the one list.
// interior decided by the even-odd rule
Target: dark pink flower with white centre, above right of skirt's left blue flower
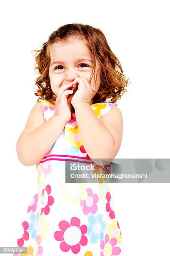
[(44, 212), (45, 215), (47, 215), (50, 212), (50, 207), (54, 203), (54, 198), (50, 195), (51, 193), (51, 186), (47, 185), (45, 189), (42, 189), (42, 196), (43, 196), (43, 201), (42, 201), (42, 208), (41, 208), (41, 213)]

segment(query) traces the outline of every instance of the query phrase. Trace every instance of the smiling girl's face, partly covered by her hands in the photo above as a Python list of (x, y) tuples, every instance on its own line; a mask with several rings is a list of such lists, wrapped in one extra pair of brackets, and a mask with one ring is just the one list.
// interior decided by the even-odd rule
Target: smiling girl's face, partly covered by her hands
[[(51, 89), (55, 96), (57, 96), (62, 85), (69, 84), (77, 77), (85, 77), (90, 83), (92, 67), (94, 66), (91, 56), (85, 42), (80, 39), (70, 38), (67, 43), (53, 43), (50, 46), (49, 76)], [(101, 69), (96, 61), (95, 74), (90, 83), (92, 90), (95, 91), (92, 92), (92, 99), (100, 87), (100, 71)], [(94, 76), (97, 84), (95, 84)], [(93, 102), (92, 99), (90, 104)]]

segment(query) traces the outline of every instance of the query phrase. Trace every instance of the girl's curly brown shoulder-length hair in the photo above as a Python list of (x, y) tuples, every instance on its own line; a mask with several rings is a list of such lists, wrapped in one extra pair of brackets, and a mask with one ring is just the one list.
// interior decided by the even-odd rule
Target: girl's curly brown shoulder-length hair
[[(38, 87), (34, 94), (40, 96), (39, 100), (48, 100), (52, 103), (55, 102), (56, 96), (51, 90), (49, 66), (50, 66), (50, 51), (49, 46), (56, 42), (63, 42), (69, 40), (71, 36), (84, 40), (87, 43), (87, 47), (92, 52), (92, 61), (95, 60), (100, 64), (100, 87), (95, 97), (94, 103), (100, 103), (107, 101), (116, 102), (120, 99), (125, 91), (125, 87), (128, 85), (128, 79), (125, 79), (123, 75), (122, 66), (115, 54), (111, 51), (105, 35), (99, 28), (93, 28), (90, 25), (81, 23), (70, 23), (61, 26), (56, 31), (52, 32), (48, 38), (48, 41), (42, 44), (42, 49), (33, 50), (35, 54), (35, 69), (38, 70), (40, 76), (35, 80), (35, 85)], [(92, 69), (91, 79), (95, 73), (94, 65)], [(95, 79), (95, 78), (94, 78)], [(96, 79), (95, 79), (96, 82)]]

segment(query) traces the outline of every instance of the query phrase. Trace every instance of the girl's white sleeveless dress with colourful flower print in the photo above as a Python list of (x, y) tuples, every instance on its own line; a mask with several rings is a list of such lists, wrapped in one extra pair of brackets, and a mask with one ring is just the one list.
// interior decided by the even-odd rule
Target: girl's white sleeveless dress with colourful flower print
[[(41, 100), (44, 120), (55, 114), (55, 103)], [(116, 103), (91, 104), (97, 118)], [(125, 256), (112, 198), (114, 183), (66, 183), (65, 161), (89, 161), (82, 144), (75, 113), (50, 151), (37, 163), (37, 191), (21, 222), (16, 247), (27, 253), (13, 256)], [(95, 173), (109, 173), (110, 165)]]

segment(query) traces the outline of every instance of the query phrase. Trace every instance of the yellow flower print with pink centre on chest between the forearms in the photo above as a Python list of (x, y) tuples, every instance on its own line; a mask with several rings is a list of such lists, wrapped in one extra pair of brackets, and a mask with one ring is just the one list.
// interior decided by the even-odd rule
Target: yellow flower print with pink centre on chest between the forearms
[(75, 125), (74, 127), (67, 126), (65, 127), (65, 129), (65, 137), (68, 143), (70, 143), (70, 145), (75, 145), (78, 149), (80, 149), (82, 141), (80, 139), (80, 133), (77, 125)]

